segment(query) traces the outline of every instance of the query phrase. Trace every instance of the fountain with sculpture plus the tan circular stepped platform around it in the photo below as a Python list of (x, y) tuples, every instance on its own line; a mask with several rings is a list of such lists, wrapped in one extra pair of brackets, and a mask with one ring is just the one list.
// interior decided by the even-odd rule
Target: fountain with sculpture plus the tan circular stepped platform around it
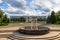
[[(37, 19), (30, 19), (30, 26), (21, 27), (13, 34), (7, 37), (8, 40), (54, 40), (58, 38), (60, 32), (51, 32), (51, 29), (45, 26), (37, 25)], [(46, 34), (46, 35), (45, 35)]]

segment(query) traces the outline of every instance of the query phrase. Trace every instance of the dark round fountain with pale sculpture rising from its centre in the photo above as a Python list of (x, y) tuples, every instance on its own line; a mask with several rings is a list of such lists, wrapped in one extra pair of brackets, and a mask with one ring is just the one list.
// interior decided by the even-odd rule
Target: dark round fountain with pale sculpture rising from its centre
[(31, 26), (22, 27), (18, 30), (18, 32), (22, 34), (27, 34), (27, 35), (44, 35), (49, 33), (48, 27), (37, 25), (36, 18), (31, 18), (30, 21), (31, 21)]

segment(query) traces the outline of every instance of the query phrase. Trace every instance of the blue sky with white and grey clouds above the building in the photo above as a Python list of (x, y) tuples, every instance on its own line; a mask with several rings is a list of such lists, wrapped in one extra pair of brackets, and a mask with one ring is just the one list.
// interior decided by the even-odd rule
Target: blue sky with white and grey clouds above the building
[(0, 8), (9, 16), (47, 16), (60, 10), (60, 0), (0, 0)]

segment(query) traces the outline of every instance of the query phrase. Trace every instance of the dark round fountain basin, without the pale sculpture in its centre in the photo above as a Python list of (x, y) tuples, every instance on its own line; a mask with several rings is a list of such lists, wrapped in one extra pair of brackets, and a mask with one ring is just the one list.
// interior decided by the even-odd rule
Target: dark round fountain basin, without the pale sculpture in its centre
[(49, 33), (48, 27), (37, 26), (37, 29), (31, 29), (31, 26), (23, 27), (18, 30), (19, 33), (27, 35), (44, 35)]

